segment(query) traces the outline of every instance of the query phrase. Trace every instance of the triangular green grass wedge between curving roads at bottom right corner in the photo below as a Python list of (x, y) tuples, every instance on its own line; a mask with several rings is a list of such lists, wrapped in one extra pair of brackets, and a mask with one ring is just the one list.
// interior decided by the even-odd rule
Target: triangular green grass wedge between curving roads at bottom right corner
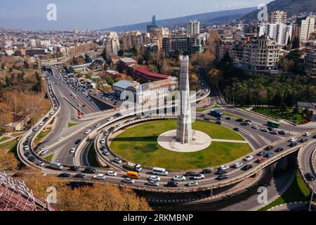
[(299, 174), (296, 172), (296, 177), (289, 187), (287, 191), (283, 193), (283, 195), (279, 196), (274, 202), (266, 205), (265, 207), (261, 208), (259, 211), (266, 211), (272, 207), (277, 205), (282, 205), (284, 203), (294, 203), (299, 201), (308, 201), (310, 198), (310, 190), (304, 184), (304, 181)]

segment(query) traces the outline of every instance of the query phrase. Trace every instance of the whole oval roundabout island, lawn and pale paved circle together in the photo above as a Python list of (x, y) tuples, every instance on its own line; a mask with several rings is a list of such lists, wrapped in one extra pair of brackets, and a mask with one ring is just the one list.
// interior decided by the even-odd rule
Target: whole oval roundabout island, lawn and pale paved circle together
[(251, 153), (249, 144), (232, 129), (203, 120), (196, 120), (192, 127), (193, 136), (202, 139), (184, 145), (173, 142), (173, 118), (129, 124), (111, 134), (107, 144), (124, 160), (166, 169), (214, 167)]

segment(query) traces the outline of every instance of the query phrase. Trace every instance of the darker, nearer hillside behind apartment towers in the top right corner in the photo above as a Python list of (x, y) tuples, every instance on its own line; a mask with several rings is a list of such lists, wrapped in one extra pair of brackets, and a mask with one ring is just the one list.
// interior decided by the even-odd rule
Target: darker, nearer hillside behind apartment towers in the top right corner
[[(298, 15), (299, 13), (314, 12), (316, 13), (316, 0), (275, 0), (267, 4), (268, 12), (285, 11), (288, 17)], [(258, 10), (244, 15), (242, 20), (249, 22), (257, 20)]]

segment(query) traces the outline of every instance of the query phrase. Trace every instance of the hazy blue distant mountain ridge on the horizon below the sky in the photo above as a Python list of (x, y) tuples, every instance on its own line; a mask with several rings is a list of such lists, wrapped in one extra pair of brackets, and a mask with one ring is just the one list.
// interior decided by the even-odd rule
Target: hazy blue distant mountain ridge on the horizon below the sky
[[(212, 13), (202, 13), (196, 15), (187, 15), (179, 18), (171, 18), (166, 20), (157, 20), (157, 25), (161, 27), (171, 27), (172, 25), (184, 26), (189, 20), (199, 20), (201, 26), (207, 25), (216, 25), (220, 23), (228, 23), (230, 20), (236, 20), (242, 16), (254, 11), (256, 8), (240, 8), (229, 11), (218, 11)], [(150, 22), (147, 23), (138, 23), (133, 25), (125, 25), (119, 27), (109, 27), (105, 28), (102, 31), (116, 31), (116, 32), (128, 32), (131, 30), (141, 30), (145, 31), (146, 26), (150, 25)]]

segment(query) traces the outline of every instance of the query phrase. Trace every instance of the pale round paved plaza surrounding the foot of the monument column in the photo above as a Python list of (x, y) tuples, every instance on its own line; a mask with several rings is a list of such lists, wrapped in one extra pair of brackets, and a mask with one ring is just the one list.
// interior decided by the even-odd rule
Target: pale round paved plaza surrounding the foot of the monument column
[(177, 131), (174, 129), (161, 134), (157, 139), (159, 146), (175, 152), (192, 153), (203, 150), (209, 147), (212, 143), (212, 139), (209, 135), (202, 131), (192, 130), (192, 142), (182, 144), (176, 141), (176, 133)]

